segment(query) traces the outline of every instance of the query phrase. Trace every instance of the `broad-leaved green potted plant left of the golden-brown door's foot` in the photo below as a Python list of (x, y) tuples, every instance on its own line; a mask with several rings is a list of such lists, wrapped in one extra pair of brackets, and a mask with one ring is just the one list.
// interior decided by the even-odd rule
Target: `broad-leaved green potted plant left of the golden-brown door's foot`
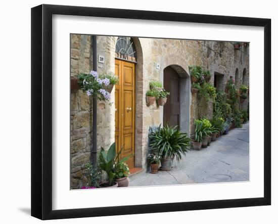
[[(100, 184), (100, 188), (116, 188), (118, 187), (118, 183), (116, 182), (116, 172), (117, 172), (117, 164), (123, 163), (126, 161), (130, 156), (120, 158), (121, 155), (120, 150), (116, 153), (116, 146), (113, 143), (109, 150), (106, 152), (104, 148), (101, 148), (100, 157), (99, 157), (99, 166), (100, 168), (106, 172), (107, 174), (107, 181)], [(118, 162), (117, 162), (118, 161)]]

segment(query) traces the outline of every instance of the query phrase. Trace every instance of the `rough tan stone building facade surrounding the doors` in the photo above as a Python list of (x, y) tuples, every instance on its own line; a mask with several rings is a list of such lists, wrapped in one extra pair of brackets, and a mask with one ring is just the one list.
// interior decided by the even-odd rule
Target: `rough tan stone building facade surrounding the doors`
[[(116, 36), (98, 36), (97, 54), (103, 57), (98, 62), (98, 73), (115, 72)], [(212, 117), (212, 103), (200, 107), (197, 95), (191, 93), (190, 65), (200, 65), (210, 70), (210, 82), (217, 89), (224, 89), (230, 76), (249, 86), (249, 44), (235, 50), (233, 42), (206, 40), (179, 40), (137, 38), (132, 42), (136, 50), (135, 64), (135, 121), (134, 121), (134, 166), (146, 170), (149, 127), (163, 125), (163, 107), (146, 104), (149, 82), (163, 83), (164, 69), (171, 67), (180, 77), (180, 119), (182, 131), (192, 135), (194, 120)], [(71, 35), (71, 77), (92, 70), (90, 35)], [(214, 80), (217, 79), (217, 82)], [(111, 93), (115, 99), (115, 88)], [(247, 108), (247, 102), (242, 105)], [(115, 141), (115, 104), (98, 102), (98, 149), (108, 148)], [(92, 107), (89, 97), (80, 90), (71, 93), (71, 187), (86, 185), (84, 164), (89, 161), (92, 145)]]

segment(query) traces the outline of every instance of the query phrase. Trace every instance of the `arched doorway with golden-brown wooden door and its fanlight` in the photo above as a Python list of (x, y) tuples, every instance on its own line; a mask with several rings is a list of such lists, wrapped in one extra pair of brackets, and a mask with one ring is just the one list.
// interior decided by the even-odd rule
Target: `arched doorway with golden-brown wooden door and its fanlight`
[(115, 143), (121, 157), (129, 156), (129, 168), (135, 166), (135, 65), (136, 51), (130, 37), (119, 36), (115, 48)]

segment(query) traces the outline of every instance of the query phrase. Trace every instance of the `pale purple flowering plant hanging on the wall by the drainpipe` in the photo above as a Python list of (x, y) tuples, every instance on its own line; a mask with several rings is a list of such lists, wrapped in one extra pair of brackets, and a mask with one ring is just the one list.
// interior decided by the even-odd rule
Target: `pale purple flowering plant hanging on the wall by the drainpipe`
[(88, 96), (102, 101), (110, 100), (110, 93), (107, 91), (110, 85), (118, 83), (118, 77), (114, 74), (98, 74), (96, 71), (81, 73), (78, 75), (78, 84), (81, 90)]

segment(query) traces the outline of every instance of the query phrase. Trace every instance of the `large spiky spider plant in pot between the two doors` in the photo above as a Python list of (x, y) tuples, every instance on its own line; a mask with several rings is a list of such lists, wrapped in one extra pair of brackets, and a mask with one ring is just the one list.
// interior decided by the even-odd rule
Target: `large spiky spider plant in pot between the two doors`
[(150, 148), (161, 155), (161, 170), (170, 170), (172, 168), (172, 160), (176, 158), (177, 162), (186, 155), (190, 149), (191, 139), (187, 137), (187, 133), (182, 133), (178, 126), (161, 127), (150, 132)]

